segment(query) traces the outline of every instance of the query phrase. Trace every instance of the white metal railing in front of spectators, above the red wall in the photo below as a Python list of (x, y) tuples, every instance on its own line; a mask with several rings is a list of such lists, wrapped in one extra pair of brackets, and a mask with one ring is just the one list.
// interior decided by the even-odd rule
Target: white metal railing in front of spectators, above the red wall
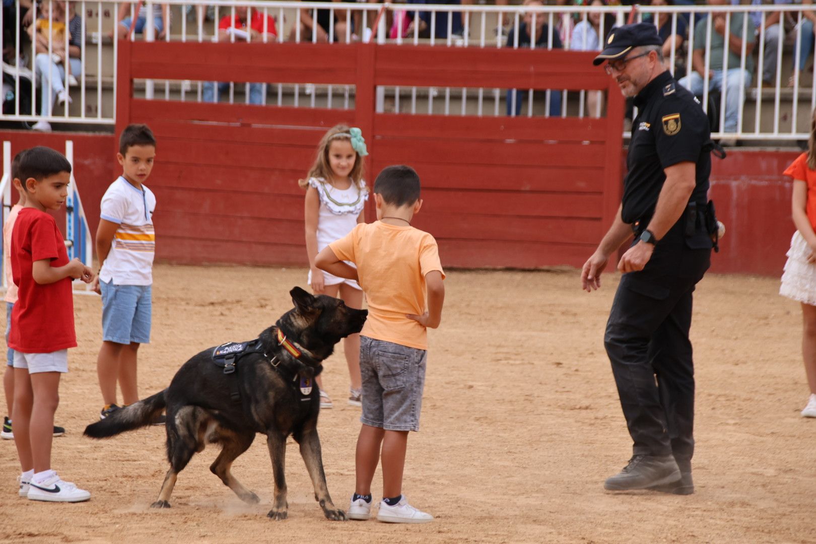
[[(13, 21), (2, 20), (6, 28), (11, 22), (20, 28), (18, 10)], [(634, 9), (635, 20), (652, 20), (660, 25), (667, 21), (670, 35), (686, 31), (678, 47), (672, 43), (667, 50), (667, 68), (676, 73), (685, 69), (690, 73), (693, 66), (702, 62), (699, 77), (691, 75), (681, 80), (698, 86), (703, 108), (710, 104), (717, 107), (719, 130), (716, 137), (748, 140), (795, 140), (809, 135), (810, 111), (816, 107), (816, 73), (813, 77), (804, 70), (809, 58), (809, 43), (813, 41), (812, 21), (805, 15), (808, 6), (674, 6), (674, 7), (560, 7), (560, 6), (459, 6), (451, 4), (370, 4), (335, 2), (268, 2), (252, 0), (166, 0), (144, 2), (144, 20), (137, 21), (135, 3), (109, 1), (56, 2), (45, 0), (47, 10), (43, 19), (46, 28), (54, 28), (59, 22), (58, 10), (53, 4), (66, 5), (65, 11), (78, 11), (80, 46), (74, 50), (74, 58), (80, 66), (78, 73), (70, 77), (60, 71), (60, 51), (68, 51), (72, 39), (65, 32), (59, 44), (54, 33), (47, 33), (44, 46), (38, 48), (29, 42), (22, 32), (13, 34), (13, 59), (4, 59), (3, 98), (11, 98), (13, 104), (4, 104), (0, 121), (24, 122), (73, 122), (113, 124), (116, 117), (116, 36), (120, 30), (120, 15), (130, 15), (125, 22), (141, 30), (144, 39), (180, 42), (220, 42), (246, 40), (252, 42), (354, 42), (372, 41), (401, 45), (424, 44), (447, 47), (529, 47), (530, 49), (600, 49), (603, 39), (612, 25), (625, 23)], [(122, 6), (125, 6), (122, 8)], [(235, 20), (242, 7), (251, 7), (260, 15), (262, 27), (257, 32), (241, 29), (220, 31), (224, 18)], [(378, 12), (386, 10), (379, 18)], [(34, 7), (34, 20), (38, 19)], [(816, 6), (813, 7), (816, 11)], [(805, 10), (805, 12), (803, 12)], [(772, 32), (765, 22), (781, 13), (787, 20), (785, 31)], [(686, 17), (688, 20), (686, 20)], [(739, 62), (728, 64), (729, 55), (723, 51), (722, 58), (712, 58), (712, 38), (716, 38), (715, 20), (724, 17), (725, 27), (734, 21), (743, 22), (742, 45)], [(160, 19), (159, 19), (160, 18)], [(240, 18), (240, 17), (239, 17)], [(748, 24), (756, 18), (760, 23), (756, 36)], [(407, 23), (405, 21), (408, 21)], [(816, 20), (816, 16), (814, 16)], [(499, 24), (499, 21), (506, 24)], [(530, 39), (527, 27), (546, 25), (545, 34)], [(695, 40), (694, 28), (702, 25), (705, 45), (701, 48)], [(271, 26), (270, 26), (271, 25)], [(144, 27), (142, 29), (141, 27)], [(325, 27), (325, 28), (324, 28)], [(157, 32), (157, 30), (161, 30)], [(583, 32), (588, 30), (588, 32)], [(508, 38), (509, 37), (509, 38)], [(130, 39), (137, 38), (130, 33)], [(695, 43), (696, 42), (696, 43)], [(754, 42), (755, 46), (749, 44)], [(10, 44), (2, 43), (5, 47)], [(694, 50), (702, 51), (702, 60)], [(719, 52), (719, 51), (717, 51)], [(37, 55), (40, 56), (38, 69)], [(47, 60), (51, 69), (43, 72)], [(698, 57), (695, 60), (695, 56)], [(22, 57), (22, 60), (20, 60)], [(756, 59), (756, 60), (755, 60)], [(770, 70), (769, 63), (774, 65)], [(70, 62), (69, 62), (70, 64)], [(76, 63), (74, 63), (76, 64)], [(716, 91), (720, 76), (711, 73), (711, 67), (723, 64), (725, 69), (735, 70), (737, 79), (731, 86), (722, 85), (719, 101), (709, 100)], [(756, 69), (750, 69), (754, 64)], [(54, 68), (54, 66), (56, 68)], [(768, 73), (769, 83), (761, 81), (763, 72)], [(726, 72), (727, 73), (727, 72)], [(805, 73), (806, 77), (802, 77)], [(681, 73), (676, 73), (679, 77)], [(685, 74), (688, 75), (688, 74)], [(790, 76), (790, 77), (788, 77)], [(70, 85), (71, 77), (76, 85)], [(803, 81), (804, 80), (804, 81)], [(66, 82), (68, 83), (66, 85)], [(790, 82), (790, 86), (788, 86)], [(51, 90), (42, 93), (42, 89)], [(64, 94), (60, 95), (60, 89)], [(149, 80), (137, 82), (136, 91), (146, 98), (165, 100), (228, 100), (251, 104), (290, 105), (296, 107), (353, 108), (353, 86), (311, 85), (295, 82), (256, 82), (233, 84), (231, 82), (188, 82)], [(163, 91), (163, 92), (162, 92)], [(223, 92), (222, 92), (223, 91)], [(31, 95), (31, 108), (26, 108), (24, 96)], [(496, 88), (459, 87), (380, 87), (377, 90), (377, 109), (380, 112), (438, 113), (443, 115), (478, 116), (595, 116), (603, 115), (603, 100), (598, 91), (554, 89), (536, 92), (530, 89), (507, 90)], [(43, 100), (44, 99), (44, 100)], [(49, 108), (43, 110), (43, 102)], [(61, 100), (65, 99), (65, 100)], [(29, 111), (24, 111), (24, 110)], [(43, 114), (47, 111), (47, 115)], [(725, 131), (725, 128), (728, 131)]]

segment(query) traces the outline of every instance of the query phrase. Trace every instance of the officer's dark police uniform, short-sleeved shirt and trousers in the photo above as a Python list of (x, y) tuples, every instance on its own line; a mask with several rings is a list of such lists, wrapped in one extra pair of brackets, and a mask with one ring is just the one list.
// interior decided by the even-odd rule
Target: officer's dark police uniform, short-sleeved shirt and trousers
[(711, 259), (704, 214), (712, 144), (700, 104), (668, 71), (641, 90), (635, 105), (621, 209), (623, 222), (633, 226), (635, 243), (654, 214), (665, 168), (694, 162), (696, 185), (684, 214), (656, 243), (645, 268), (621, 277), (604, 343), (633, 454), (673, 454), (681, 471), (690, 472), (694, 364), (689, 329), (694, 285)]

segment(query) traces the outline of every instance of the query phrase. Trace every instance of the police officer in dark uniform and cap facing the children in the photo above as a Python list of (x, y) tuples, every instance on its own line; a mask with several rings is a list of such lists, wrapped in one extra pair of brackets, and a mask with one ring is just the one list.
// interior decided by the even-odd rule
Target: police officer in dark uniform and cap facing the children
[(654, 24), (613, 29), (593, 64), (605, 63), (638, 110), (632, 123), (623, 200), (583, 265), (588, 292), (601, 287), (610, 256), (634, 232), (606, 325), (623, 415), (634, 447), (627, 467), (605, 481), (612, 491), (694, 493), (694, 366), (689, 329), (694, 285), (712, 250), (705, 227), (712, 142), (698, 101), (663, 67)]

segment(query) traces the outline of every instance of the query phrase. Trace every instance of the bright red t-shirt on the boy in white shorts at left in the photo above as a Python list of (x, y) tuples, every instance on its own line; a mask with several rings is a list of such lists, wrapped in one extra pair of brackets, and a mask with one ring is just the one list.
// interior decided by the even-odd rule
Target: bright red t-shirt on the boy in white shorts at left
[(52, 267), (68, 264), (62, 233), (51, 215), (23, 208), (11, 233), (11, 274), (19, 289), (8, 345), (18, 352), (51, 353), (77, 346), (71, 278), (38, 284), (31, 268), (42, 259), (51, 259)]

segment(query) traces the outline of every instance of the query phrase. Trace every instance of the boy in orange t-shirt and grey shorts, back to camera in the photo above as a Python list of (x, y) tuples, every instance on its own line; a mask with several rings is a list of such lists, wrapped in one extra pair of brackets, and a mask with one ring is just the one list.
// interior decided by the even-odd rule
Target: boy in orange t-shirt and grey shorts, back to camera
[(388, 166), (377, 176), (374, 197), (378, 221), (358, 224), (315, 259), (317, 268), (357, 280), (369, 308), (360, 333), (362, 427), (348, 517), (370, 518), (371, 480), (382, 458), (384, 498), (377, 519), (427, 523), (432, 515), (410, 506), (402, 496), (402, 471), (408, 431), (419, 431), (426, 329), (436, 329), (441, 321), (445, 273), (437, 241), (410, 226), (422, 206), (416, 172), (409, 166)]

